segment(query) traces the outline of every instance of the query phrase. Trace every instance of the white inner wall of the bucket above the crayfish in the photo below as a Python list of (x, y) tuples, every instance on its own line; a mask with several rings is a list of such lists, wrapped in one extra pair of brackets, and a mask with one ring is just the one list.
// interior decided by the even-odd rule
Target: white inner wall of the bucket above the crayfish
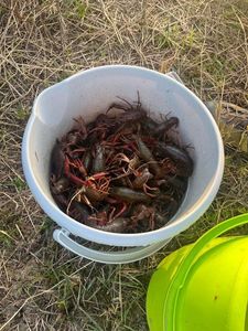
[[(177, 82), (152, 71), (138, 67), (114, 66), (86, 71), (45, 89), (35, 100), (26, 145), (29, 170), (54, 209), (57, 209), (48, 186), (51, 150), (57, 138), (67, 132), (73, 118), (83, 116), (93, 120), (106, 111), (118, 96), (137, 102), (139, 92), (142, 106), (151, 113), (176, 116), (180, 135), (190, 145), (194, 173), (187, 194), (173, 217), (186, 215), (202, 203), (219, 167), (219, 141), (214, 120), (203, 104)], [(60, 220), (55, 220), (60, 224)]]

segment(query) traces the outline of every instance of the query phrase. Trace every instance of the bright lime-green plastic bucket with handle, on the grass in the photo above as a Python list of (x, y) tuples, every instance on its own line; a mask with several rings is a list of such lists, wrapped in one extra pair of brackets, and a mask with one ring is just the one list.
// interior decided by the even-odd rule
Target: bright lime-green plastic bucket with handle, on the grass
[(248, 331), (248, 237), (220, 234), (229, 218), (164, 258), (149, 284), (150, 331)]

